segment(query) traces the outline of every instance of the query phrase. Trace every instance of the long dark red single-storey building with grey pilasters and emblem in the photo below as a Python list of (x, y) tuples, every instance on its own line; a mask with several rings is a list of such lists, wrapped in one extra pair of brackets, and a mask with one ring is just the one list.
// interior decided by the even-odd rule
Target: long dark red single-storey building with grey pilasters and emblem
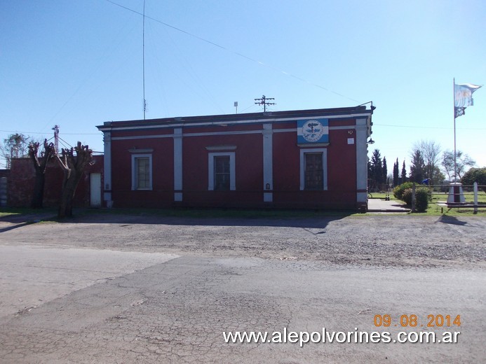
[(366, 106), (107, 122), (114, 207), (363, 209)]

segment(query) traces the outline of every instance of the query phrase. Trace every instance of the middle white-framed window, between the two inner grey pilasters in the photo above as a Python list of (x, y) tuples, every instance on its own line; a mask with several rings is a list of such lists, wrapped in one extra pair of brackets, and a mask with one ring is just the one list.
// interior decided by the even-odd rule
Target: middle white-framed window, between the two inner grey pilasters
[(208, 190), (236, 190), (235, 153), (208, 153)]

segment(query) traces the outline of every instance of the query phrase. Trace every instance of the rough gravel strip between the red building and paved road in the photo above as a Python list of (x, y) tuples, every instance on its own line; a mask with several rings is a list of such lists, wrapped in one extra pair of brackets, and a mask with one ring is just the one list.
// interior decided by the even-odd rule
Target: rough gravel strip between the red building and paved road
[[(4, 219), (5, 220), (5, 219)], [(4, 225), (1, 225), (4, 224)], [(486, 268), (486, 219), (363, 215), (173, 218), (91, 214), (63, 223), (0, 223), (3, 244), (317, 260), (336, 265)]]

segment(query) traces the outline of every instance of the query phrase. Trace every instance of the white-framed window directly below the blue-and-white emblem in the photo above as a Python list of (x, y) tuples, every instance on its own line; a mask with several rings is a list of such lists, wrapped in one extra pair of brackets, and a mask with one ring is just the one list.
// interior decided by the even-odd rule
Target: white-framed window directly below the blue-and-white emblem
[(328, 153), (325, 148), (300, 150), (300, 189), (328, 189)]

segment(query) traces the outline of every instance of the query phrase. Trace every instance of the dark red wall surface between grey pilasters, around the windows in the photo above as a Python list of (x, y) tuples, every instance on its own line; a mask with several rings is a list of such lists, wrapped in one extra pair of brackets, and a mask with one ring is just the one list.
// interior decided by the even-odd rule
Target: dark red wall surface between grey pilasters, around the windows
[[(173, 129), (145, 132), (112, 132), (112, 198), (114, 207), (282, 207), (356, 208), (356, 130), (355, 120), (330, 120), (327, 148), (328, 190), (300, 190), (300, 150), (297, 123), (274, 123), (272, 153), (273, 202), (264, 203), (263, 135), (219, 134), (190, 136), (191, 133), (262, 130), (262, 124), (237, 126), (184, 127), (182, 139), (182, 202), (174, 202), (173, 138), (116, 140), (116, 137), (172, 134)], [(347, 128), (349, 126), (349, 129)], [(292, 132), (276, 130), (292, 129)], [(123, 134), (122, 134), (123, 133)], [(354, 139), (354, 144), (348, 144)], [(208, 191), (208, 146), (236, 146), (236, 191)], [(153, 190), (131, 190), (130, 149), (153, 149)], [(219, 151), (229, 151), (221, 148)]]

